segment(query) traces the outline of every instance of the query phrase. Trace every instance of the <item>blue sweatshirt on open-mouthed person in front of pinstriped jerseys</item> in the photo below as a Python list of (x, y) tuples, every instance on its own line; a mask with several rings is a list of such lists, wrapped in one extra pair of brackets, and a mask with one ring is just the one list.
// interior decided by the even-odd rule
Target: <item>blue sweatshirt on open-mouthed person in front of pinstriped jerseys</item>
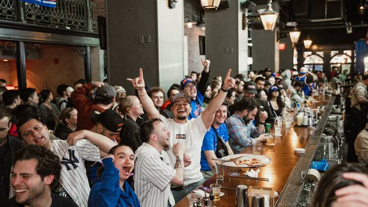
[(103, 159), (104, 172), (93, 185), (88, 198), (88, 207), (140, 207), (138, 197), (128, 182), (123, 189), (119, 185), (119, 170), (112, 158)]

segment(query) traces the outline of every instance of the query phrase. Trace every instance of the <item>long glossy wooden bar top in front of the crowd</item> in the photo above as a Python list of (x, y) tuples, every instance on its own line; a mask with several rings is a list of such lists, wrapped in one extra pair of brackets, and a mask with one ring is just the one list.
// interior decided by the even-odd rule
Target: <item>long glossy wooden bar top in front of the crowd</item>
[[(316, 98), (319, 102), (313, 104), (315, 107), (318, 105), (327, 104), (326, 99)], [(271, 130), (274, 132), (274, 129)], [(308, 129), (307, 127), (292, 126), (286, 129), (285, 124), (282, 128), (282, 136), (275, 136), (275, 145), (262, 144), (261, 155), (266, 155), (271, 157), (272, 161), (267, 165), (260, 168), (259, 178), (268, 178), (269, 181), (257, 181), (245, 178), (230, 177), (229, 172), (238, 172), (241, 175), (244, 173), (241, 168), (229, 168), (225, 167), (224, 181), (220, 181), (219, 184), (225, 188), (233, 189), (221, 189), (225, 195), (220, 197), (220, 200), (216, 202), (216, 207), (235, 207), (235, 194), (236, 188), (239, 184), (244, 184), (247, 186), (260, 186), (260, 187), (272, 187), (279, 194), (284, 188), (285, 183), (299, 159), (300, 154), (294, 154), (295, 148), (305, 148), (309, 137), (312, 135), (313, 129)], [(242, 154), (253, 154), (252, 146), (245, 148)], [(210, 187), (210, 184), (216, 183), (216, 175), (214, 174), (208, 180), (206, 180), (202, 185)], [(297, 196), (297, 195), (295, 195)], [(278, 197), (275, 198), (275, 202)], [(188, 207), (188, 199), (184, 197), (180, 202), (178, 202), (175, 207)]]

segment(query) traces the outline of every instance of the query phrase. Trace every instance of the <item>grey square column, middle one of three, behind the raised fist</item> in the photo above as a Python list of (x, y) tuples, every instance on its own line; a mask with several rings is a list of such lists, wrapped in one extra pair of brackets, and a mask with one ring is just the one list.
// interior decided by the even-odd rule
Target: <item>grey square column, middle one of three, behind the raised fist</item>
[(211, 77), (226, 75), (229, 68), (234, 77), (246, 74), (248, 57), (248, 27), (242, 29), (245, 0), (231, 0), (229, 8), (206, 9), (206, 58), (211, 61)]

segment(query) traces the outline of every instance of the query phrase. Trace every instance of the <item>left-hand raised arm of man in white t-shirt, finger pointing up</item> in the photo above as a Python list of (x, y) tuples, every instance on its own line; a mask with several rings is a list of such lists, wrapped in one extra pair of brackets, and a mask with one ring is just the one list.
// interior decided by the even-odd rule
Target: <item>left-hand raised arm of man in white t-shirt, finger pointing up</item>
[(142, 68), (139, 68), (139, 77), (134, 79), (127, 78), (127, 80), (137, 89), (140, 103), (142, 103), (144, 110), (146, 110), (148, 119), (160, 118), (160, 113), (156, 109), (152, 99), (147, 95), (146, 89), (144, 89)]

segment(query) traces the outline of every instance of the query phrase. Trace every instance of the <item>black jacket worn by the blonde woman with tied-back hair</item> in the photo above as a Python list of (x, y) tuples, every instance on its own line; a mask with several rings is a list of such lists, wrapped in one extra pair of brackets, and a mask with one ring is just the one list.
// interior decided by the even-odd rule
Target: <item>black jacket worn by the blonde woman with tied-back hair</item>
[(130, 116), (126, 116), (123, 123), (124, 125), (120, 132), (120, 145), (128, 145), (133, 149), (133, 152), (135, 152), (137, 148), (143, 144), (140, 135), (140, 127)]

